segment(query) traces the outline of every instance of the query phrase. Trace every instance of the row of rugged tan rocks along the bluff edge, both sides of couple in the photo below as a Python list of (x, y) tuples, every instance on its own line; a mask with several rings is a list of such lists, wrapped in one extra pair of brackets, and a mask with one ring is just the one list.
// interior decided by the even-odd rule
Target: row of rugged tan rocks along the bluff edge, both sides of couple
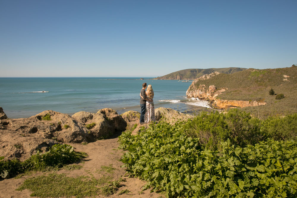
[[(192, 117), (164, 107), (157, 108), (155, 115), (157, 121), (164, 118), (168, 123)], [(72, 116), (46, 110), (29, 118), (10, 119), (0, 107), (0, 156), (23, 161), (37, 151), (48, 151), (57, 143), (95, 142), (132, 127), (132, 133), (137, 134), (142, 126), (149, 125), (140, 125), (139, 117), (137, 111), (119, 115), (115, 110), (105, 108), (97, 113), (80, 111)]]

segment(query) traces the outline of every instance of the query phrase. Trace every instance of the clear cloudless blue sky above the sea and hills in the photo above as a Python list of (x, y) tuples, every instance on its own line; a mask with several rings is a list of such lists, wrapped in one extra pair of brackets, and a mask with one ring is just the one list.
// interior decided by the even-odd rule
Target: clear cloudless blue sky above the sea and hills
[(296, 8), (296, 0), (0, 0), (0, 77), (289, 67)]

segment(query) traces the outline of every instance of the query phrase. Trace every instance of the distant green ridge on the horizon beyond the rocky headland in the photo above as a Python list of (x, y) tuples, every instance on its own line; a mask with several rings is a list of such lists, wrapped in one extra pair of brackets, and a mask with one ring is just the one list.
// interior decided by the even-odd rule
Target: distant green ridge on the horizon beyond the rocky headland
[(209, 69), (183, 69), (177, 72), (172, 72), (165, 76), (156, 77), (154, 80), (194, 80), (203, 75), (210, 74), (212, 72), (219, 72), (224, 74), (232, 74), (246, 70), (247, 68), (240, 67), (225, 67), (225, 68), (209, 68)]

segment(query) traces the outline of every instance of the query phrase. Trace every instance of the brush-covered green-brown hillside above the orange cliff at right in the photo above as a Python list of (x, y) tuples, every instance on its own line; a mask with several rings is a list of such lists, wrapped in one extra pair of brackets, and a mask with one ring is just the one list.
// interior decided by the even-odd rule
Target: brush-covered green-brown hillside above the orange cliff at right
[[(286, 68), (247, 69), (233, 74), (219, 74), (211, 79), (198, 81), (196, 86), (200, 84), (207, 87), (215, 85), (216, 88), (228, 88), (218, 96), (220, 99), (266, 102), (264, 106), (244, 108), (255, 116), (259, 114), (260, 117), (267, 117), (297, 112), (297, 67), (294, 65)], [(269, 95), (271, 88), (275, 94), (284, 94), (285, 98), (275, 99), (276, 95)]]

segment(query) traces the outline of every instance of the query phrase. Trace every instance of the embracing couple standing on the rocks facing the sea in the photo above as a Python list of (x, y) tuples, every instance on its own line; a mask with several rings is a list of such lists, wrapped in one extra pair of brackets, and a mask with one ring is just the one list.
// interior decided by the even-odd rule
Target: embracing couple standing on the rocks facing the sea
[(151, 85), (142, 84), (140, 91), (140, 124), (155, 122), (155, 107), (154, 107), (154, 90)]

